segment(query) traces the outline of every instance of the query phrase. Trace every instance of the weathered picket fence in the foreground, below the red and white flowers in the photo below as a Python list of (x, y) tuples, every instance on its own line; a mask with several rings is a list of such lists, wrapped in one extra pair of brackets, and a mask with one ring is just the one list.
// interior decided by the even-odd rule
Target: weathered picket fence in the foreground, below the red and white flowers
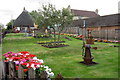
[[(35, 73), (33, 68), (28, 69), (26, 75), (24, 74), (23, 67), (19, 65), (18, 70), (15, 69), (15, 63), (0, 62), (0, 80), (50, 80), (46, 71)], [(61, 74), (57, 74), (55, 80), (63, 80)]]

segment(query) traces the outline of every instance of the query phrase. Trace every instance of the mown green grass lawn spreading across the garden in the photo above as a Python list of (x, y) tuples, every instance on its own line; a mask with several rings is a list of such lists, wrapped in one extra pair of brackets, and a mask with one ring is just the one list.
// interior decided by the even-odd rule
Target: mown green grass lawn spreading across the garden
[[(69, 46), (61, 48), (45, 48), (37, 41), (45, 39), (35, 39), (24, 37), (24, 34), (7, 34), (2, 43), (2, 54), (12, 51), (28, 51), (35, 54), (38, 58), (44, 60), (56, 74), (61, 73), (64, 78), (118, 78), (118, 48), (109, 45), (115, 43), (95, 42), (92, 47), (98, 47), (97, 50), (91, 49), (93, 61), (98, 64), (86, 66), (80, 64), (82, 59), (82, 40), (69, 37), (72, 41), (66, 41)], [(49, 40), (49, 39), (46, 39)]]

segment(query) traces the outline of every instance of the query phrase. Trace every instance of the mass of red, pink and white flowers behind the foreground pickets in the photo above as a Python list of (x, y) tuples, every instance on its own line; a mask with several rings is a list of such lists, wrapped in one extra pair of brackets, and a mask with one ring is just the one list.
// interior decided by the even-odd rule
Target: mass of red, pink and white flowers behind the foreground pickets
[(34, 70), (45, 70), (48, 74), (48, 77), (54, 75), (48, 66), (43, 65), (42, 59), (38, 59), (34, 54), (30, 54), (27, 51), (22, 51), (19, 53), (8, 52), (3, 54), (3, 56), (5, 57), (4, 62), (15, 62), (16, 70), (18, 70), (19, 65), (22, 65), (24, 72), (27, 72), (28, 69), (32, 67)]

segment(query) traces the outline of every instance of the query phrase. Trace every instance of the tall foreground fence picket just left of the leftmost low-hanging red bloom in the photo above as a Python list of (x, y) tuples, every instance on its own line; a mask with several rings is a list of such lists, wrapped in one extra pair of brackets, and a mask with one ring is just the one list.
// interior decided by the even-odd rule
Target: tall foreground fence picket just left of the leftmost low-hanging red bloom
[(16, 77), (15, 63), (10, 61), (8, 64), (9, 64), (9, 78), (15, 79)]

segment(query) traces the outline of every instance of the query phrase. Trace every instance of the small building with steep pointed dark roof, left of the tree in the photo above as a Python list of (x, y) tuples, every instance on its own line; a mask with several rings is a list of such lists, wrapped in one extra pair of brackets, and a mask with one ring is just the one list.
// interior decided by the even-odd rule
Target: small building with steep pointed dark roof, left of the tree
[(29, 12), (23, 9), (23, 12), (18, 16), (18, 18), (13, 23), (14, 27), (19, 27), (21, 32), (29, 32), (34, 28), (34, 23)]

